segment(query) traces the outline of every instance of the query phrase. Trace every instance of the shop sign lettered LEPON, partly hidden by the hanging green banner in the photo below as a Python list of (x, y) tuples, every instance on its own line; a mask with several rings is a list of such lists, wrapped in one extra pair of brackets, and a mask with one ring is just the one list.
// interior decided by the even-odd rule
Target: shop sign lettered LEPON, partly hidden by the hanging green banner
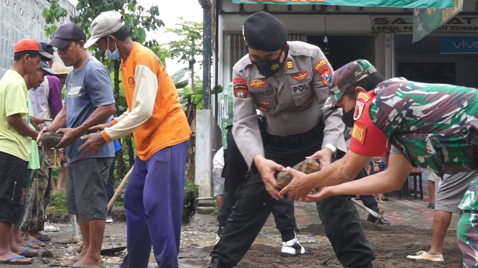
[[(412, 16), (370, 16), (372, 32), (413, 32)], [(434, 32), (478, 33), (478, 16), (456, 16)]]

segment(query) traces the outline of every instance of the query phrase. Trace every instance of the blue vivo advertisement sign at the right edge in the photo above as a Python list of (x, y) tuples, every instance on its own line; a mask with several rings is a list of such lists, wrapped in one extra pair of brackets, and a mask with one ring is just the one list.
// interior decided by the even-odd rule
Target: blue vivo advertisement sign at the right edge
[(442, 36), (440, 53), (469, 54), (478, 53), (478, 37), (474, 36)]

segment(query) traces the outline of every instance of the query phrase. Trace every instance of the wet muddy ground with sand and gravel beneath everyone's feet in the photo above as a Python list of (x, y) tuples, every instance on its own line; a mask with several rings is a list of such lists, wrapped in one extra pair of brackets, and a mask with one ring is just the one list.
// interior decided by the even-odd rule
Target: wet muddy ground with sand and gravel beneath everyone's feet
[[(121, 211), (115, 213), (115, 222), (108, 224), (105, 230), (103, 248), (126, 246), (126, 223)], [(57, 216), (57, 220), (68, 221), (68, 217)], [(268, 220), (269, 222), (269, 220)], [(69, 223), (56, 224), (60, 232), (48, 233), (53, 237), (52, 242), (40, 250), (40, 256), (33, 258), (30, 266), (20, 267), (54, 267), (62, 260), (72, 258), (81, 243), (59, 244), (61, 239), (72, 237), (72, 225)], [(460, 250), (456, 245), (456, 234), (450, 229), (445, 239), (445, 262), (413, 261), (407, 255), (413, 255), (419, 250), (428, 250), (432, 240), (431, 226), (377, 226), (363, 222), (367, 238), (372, 245), (377, 259), (375, 268), (448, 268), (457, 267), (460, 262)], [(301, 233), (299, 240), (306, 247), (313, 249), (311, 256), (284, 259), (279, 257), (281, 237), (279, 232), (266, 223), (249, 252), (239, 263), (242, 268), (299, 268), (299, 267), (342, 267), (334, 255), (321, 225), (310, 224), (299, 226)], [(217, 223), (214, 216), (200, 216), (189, 225), (183, 226), (180, 249), (180, 268), (206, 268), (210, 257), (209, 253), (215, 242)], [(102, 256), (102, 267), (110, 268), (118, 264), (126, 250)], [(18, 268), (18, 265), (2, 265), (2, 268)], [(154, 258), (150, 258), (150, 268), (157, 267)]]

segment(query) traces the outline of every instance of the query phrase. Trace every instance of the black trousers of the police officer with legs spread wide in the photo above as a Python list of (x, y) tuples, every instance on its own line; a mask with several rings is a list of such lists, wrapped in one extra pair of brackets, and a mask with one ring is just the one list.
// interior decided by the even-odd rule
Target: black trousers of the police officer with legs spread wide
[[(323, 128), (314, 131), (316, 133), (313, 134), (317, 137), (323, 132)], [(321, 145), (322, 138), (301, 139), (294, 135), (290, 138), (272, 138), (264, 149), (267, 159), (284, 166), (293, 166), (306, 156), (313, 155)], [(375, 259), (365, 238), (357, 209), (350, 198), (351, 196), (329, 197), (320, 202), (319, 207), (326, 236), (344, 267), (360, 266)], [(219, 259), (221, 268), (234, 267), (239, 263), (261, 231), (272, 208), (277, 203), (284, 202), (269, 195), (257, 172), (247, 173), (235, 199), (235, 205), (219, 235), (220, 239), (210, 254)]]

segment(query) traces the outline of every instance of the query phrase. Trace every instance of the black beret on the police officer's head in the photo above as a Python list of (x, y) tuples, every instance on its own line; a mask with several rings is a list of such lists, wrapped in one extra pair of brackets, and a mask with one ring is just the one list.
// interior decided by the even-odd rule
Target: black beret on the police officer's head
[(261, 11), (250, 15), (242, 26), (246, 45), (266, 52), (277, 51), (287, 44), (285, 25), (271, 14)]

